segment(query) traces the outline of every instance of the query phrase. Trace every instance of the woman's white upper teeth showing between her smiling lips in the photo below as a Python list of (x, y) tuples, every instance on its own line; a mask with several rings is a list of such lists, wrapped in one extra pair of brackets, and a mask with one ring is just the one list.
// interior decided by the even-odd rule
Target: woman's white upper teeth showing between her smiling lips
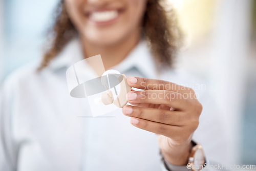
[(111, 19), (116, 18), (117, 15), (118, 15), (117, 10), (92, 12), (90, 15), (90, 19), (94, 20), (95, 22), (107, 22)]

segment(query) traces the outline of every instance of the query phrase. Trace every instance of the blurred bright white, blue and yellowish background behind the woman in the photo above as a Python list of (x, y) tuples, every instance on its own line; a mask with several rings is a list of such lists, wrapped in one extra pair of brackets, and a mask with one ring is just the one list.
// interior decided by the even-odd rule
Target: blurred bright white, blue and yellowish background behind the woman
[[(58, 0), (0, 0), (0, 86), (42, 54)], [(186, 36), (177, 70), (207, 83), (236, 164), (256, 164), (256, 0), (168, 0)]]

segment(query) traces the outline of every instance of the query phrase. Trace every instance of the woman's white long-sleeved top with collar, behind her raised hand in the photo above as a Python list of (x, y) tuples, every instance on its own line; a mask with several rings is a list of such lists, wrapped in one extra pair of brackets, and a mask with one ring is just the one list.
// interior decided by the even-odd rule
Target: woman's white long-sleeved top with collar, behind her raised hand
[[(34, 62), (11, 74), (0, 96), (0, 170), (160, 170), (156, 135), (130, 124), (121, 109), (92, 118), (86, 99), (69, 95), (66, 70), (83, 58), (78, 39), (41, 72)], [(195, 80), (173, 70), (158, 71), (146, 42), (113, 69), (193, 86)], [(88, 77), (94, 77), (88, 69)], [(200, 125), (193, 139), (209, 161), (227, 160), (222, 116), (204, 90)], [(162, 167), (162, 169), (164, 169)], [(184, 170), (184, 167), (183, 167)]]

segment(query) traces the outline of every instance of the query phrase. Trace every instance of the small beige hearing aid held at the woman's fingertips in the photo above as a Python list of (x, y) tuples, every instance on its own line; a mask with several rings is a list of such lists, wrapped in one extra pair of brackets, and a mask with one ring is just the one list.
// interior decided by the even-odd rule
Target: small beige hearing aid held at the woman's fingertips
[[(109, 105), (109, 104), (113, 103), (118, 108), (122, 108), (127, 103), (126, 94), (131, 91), (131, 87), (127, 84), (127, 78), (124, 74), (121, 75), (116, 70), (108, 70), (102, 74), (102, 78), (107, 78), (108, 80), (101, 80), (102, 84), (107, 89), (111, 88), (110, 80), (108, 77), (108, 75), (110, 75), (110, 74), (119, 75), (118, 80), (120, 81), (120, 83), (119, 83), (120, 84), (120, 92), (119, 92), (117, 98), (114, 99), (112, 91), (107, 90), (101, 94), (100, 99), (95, 100), (95, 103), (97, 103), (97, 104), (103, 103), (104, 105)], [(103, 77), (103, 76), (107, 76), (107, 77)], [(115, 87), (114, 87), (114, 89), (115, 89)], [(116, 89), (115, 89), (115, 93), (117, 94)]]

